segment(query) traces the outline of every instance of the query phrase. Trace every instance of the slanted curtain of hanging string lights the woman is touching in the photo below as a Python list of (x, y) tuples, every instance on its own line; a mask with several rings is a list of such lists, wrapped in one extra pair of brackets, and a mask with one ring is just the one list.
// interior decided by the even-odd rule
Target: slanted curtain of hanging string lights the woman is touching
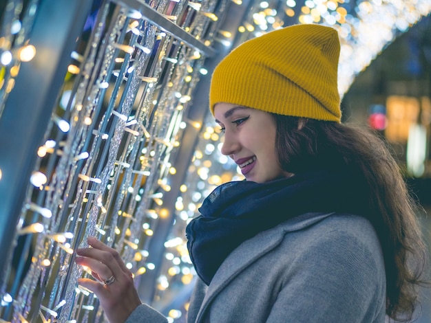
[[(149, 7), (205, 47), (226, 3), (150, 1)], [(11, 14), (3, 16), (12, 32), (0, 35), (2, 106), (19, 65), (38, 51), (23, 41), (25, 19), (37, 12), (38, 1), (30, 12), (20, 8), (22, 1), (8, 1)], [(96, 236), (118, 249), (135, 276), (154, 270), (147, 247), (158, 219), (167, 215), (171, 159), (182, 131), (201, 126), (182, 115), (207, 73), (204, 52), (116, 1), (105, 1), (96, 19), (82, 52), (71, 53), (63, 93), (37, 151), (8, 246), (1, 322), (102, 322), (94, 295), (77, 285), (90, 274), (74, 265), (74, 249)], [(178, 311), (169, 314), (173, 321)]]

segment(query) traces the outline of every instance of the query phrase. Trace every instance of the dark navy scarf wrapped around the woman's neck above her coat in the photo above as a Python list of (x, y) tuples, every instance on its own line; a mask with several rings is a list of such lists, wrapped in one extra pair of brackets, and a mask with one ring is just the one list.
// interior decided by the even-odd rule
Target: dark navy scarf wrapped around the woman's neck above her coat
[(315, 171), (267, 183), (232, 181), (215, 188), (186, 227), (198, 276), (209, 285), (233, 249), (257, 233), (307, 212), (369, 215), (364, 178), (348, 171)]

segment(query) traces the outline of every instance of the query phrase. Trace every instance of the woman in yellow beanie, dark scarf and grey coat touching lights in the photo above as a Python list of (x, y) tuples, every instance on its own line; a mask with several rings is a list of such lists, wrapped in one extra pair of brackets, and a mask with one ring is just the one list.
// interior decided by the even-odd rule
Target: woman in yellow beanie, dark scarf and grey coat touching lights
[[(426, 258), (414, 204), (383, 142), (340, 123), (338, 57), (334, 29), (294, 25), (215, 69), (222, 153), (246, 181), (216, 188), (187, 226), (199, 276), (188, 322), (412, 319)], [(89, 243), (76, 263), (105, 284), (80, 284), (109, 321), (166, 322), (118, 253)]]

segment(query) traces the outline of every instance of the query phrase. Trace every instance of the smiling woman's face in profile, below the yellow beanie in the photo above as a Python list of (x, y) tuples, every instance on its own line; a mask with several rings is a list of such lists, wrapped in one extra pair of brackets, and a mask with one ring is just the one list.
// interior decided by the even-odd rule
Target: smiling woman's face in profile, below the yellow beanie
[(275, 120), (264, 111), (218, 103), (215, 122), (224, 132), (222, 154), (231, 157), (247, 181), (264, 183), (288, 174), (275, 153)]

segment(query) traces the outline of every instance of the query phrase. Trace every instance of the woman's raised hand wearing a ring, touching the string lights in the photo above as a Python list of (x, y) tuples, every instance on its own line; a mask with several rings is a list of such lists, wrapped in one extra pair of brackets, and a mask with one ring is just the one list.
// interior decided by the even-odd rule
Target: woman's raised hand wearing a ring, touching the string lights
[(115, 249), (93, 237), (87, 241), (91, 248), (76, 249), (75, 262), (90, 268), (98, 281), (79, 278), (79, 285), (96, 294), (109, 322), (123, 323), (141, 304), (132, 272)]

